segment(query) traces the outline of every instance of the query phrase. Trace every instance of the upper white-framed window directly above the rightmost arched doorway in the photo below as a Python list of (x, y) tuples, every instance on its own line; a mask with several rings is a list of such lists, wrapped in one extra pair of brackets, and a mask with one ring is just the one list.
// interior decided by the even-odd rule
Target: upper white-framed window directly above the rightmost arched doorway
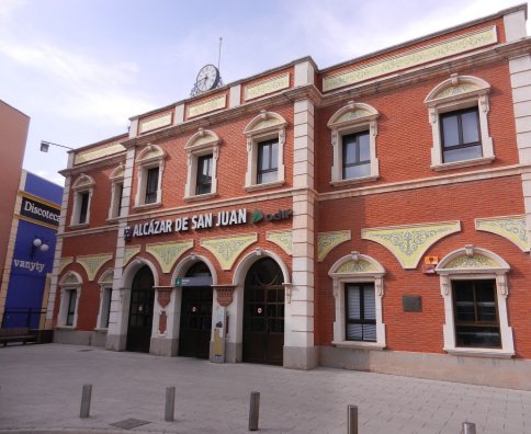
[(246, 126), (246, 191), (279, 186), (285, 182), (286, 125), (281, 115), (263, 110)]

